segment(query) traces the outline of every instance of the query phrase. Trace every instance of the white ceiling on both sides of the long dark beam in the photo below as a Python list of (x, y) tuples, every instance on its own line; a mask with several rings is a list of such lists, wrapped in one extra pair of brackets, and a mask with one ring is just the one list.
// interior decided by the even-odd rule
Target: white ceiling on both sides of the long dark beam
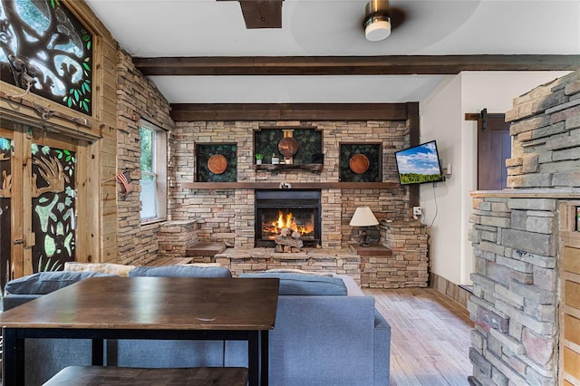
[[(407, 19), (377, 43), (367, 2), (285, 0), (281, 29), (247, 30), (237, 1), (86, 0), (134, 57), (580, 54), (580, 0), (391, 0)], [(444, 78), (150, 77), (171, 103), (422, 101)]]

